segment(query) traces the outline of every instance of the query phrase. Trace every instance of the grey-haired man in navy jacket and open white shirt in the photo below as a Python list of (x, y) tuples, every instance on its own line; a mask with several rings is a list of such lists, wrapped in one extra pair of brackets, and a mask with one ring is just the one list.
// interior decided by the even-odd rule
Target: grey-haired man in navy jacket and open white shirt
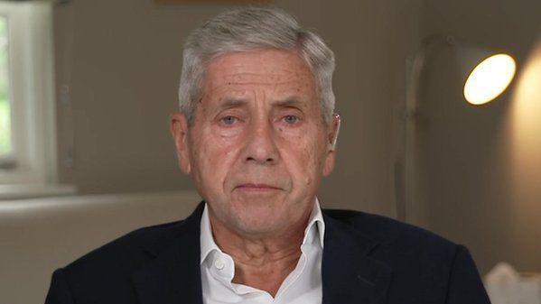
[(183, 59), (171, 132), (204, 202), (57, 270), (46, 303), (489, 303), (463, 246), (321, 210), (340, 117), (318, 36), (238, 9), (192, 32)]

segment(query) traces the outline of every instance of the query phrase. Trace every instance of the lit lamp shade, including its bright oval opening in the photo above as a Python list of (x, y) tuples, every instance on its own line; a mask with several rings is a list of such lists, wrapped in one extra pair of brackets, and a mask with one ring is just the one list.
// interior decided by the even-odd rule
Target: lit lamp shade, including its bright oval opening
[(462, 74), (463, 96), (471, 105), (499, 97), (515, 77), (517, 64), (505, 52), (455, 44)]

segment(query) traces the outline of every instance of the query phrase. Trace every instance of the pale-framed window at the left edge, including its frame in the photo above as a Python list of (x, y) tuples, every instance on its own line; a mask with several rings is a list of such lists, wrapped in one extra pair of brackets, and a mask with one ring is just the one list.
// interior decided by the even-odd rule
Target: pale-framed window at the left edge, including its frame
[(0, 2), (0, 199), (57, 183), (52, 42), (50, 2)]

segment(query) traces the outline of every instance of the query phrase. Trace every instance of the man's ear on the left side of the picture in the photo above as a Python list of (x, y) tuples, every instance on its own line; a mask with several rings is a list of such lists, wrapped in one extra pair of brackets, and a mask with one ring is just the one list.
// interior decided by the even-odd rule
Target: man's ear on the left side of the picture
[(174, 145), (179, 160), (179, 168), (184, 174), (191, 173), (190, 145), (188, 143), (188, 119), (182, 113), (170, 115), (170, 131), (173, 135)]

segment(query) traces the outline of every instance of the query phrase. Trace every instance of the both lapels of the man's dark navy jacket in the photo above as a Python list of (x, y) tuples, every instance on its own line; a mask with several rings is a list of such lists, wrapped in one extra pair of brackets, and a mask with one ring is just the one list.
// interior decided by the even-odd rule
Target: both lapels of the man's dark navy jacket
[[(174, 233), (145, 247), (153, 259), (133, 273), (142, 304), (202, 304), (200, 227), (204, 202)], [(378, 243), (326, 216), (322, 258), (323, 304), (383, 303), (392, 276), (369, 256)]]

